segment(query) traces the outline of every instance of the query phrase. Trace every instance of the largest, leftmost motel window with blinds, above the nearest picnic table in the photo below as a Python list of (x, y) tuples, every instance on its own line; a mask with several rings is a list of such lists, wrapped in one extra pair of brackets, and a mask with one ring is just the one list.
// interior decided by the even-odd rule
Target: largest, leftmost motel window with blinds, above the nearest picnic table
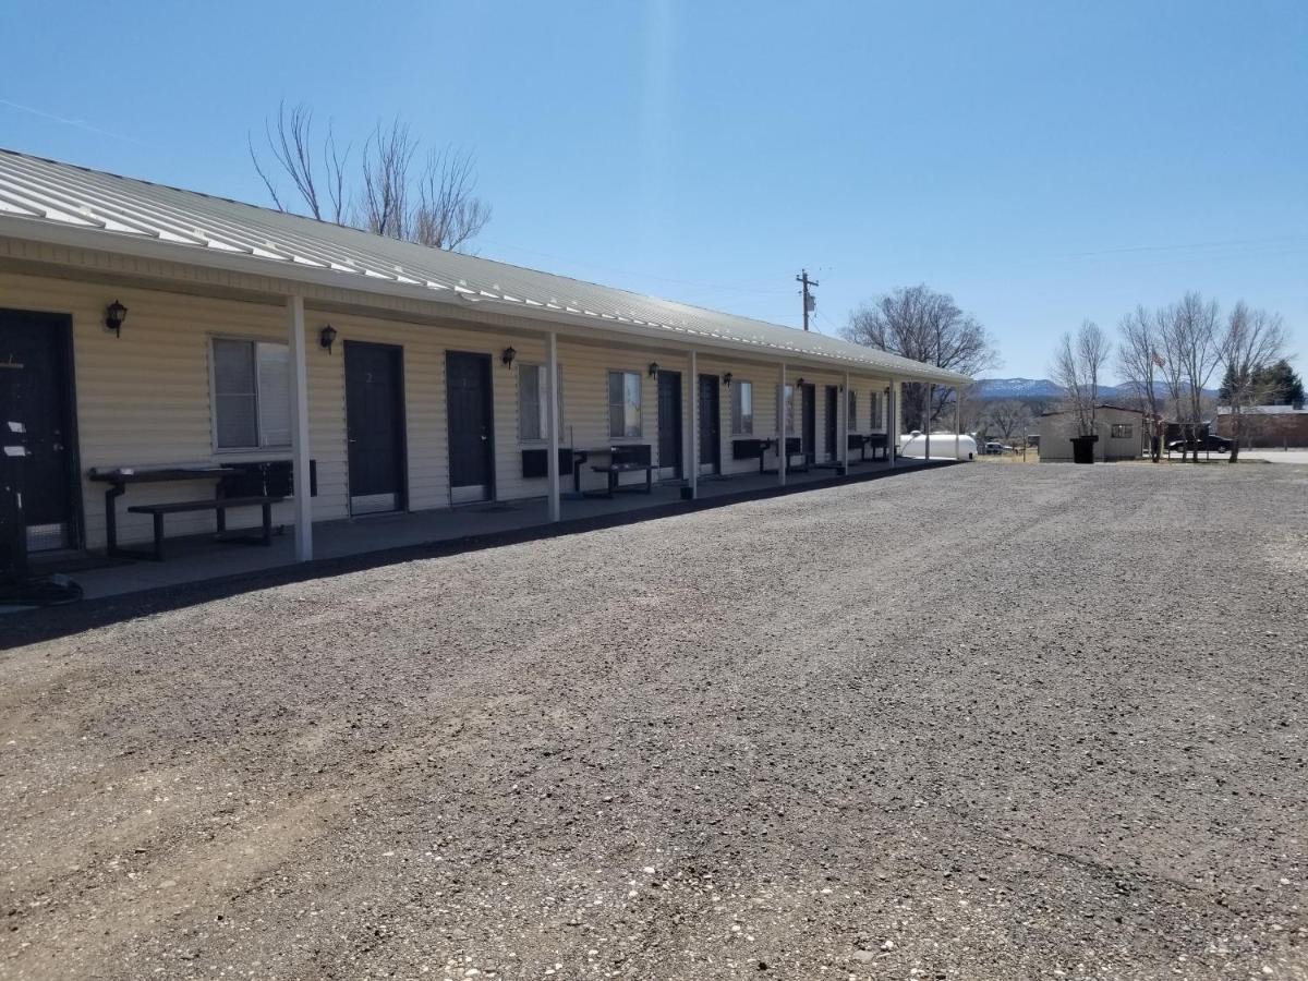
[(213, 442), (218, 450), (290, 446), (290, 351), (215, 337)]

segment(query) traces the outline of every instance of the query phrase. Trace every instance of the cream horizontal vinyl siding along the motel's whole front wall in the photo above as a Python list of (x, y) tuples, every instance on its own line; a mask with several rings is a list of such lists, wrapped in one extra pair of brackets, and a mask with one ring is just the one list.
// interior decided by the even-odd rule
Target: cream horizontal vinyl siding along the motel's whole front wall
[[(128, 307), (120, 339), (103, 328), (109, 302), (120, 300)], [(0, 307), (67, 313), (73, 322), (75, 383), (77, 426), (82, 473), (93, 467), (145, 467), (224, 460), (289, 459), (289, 447), (263, 451), (222, 453), (213, 446), (212, 402), (209, 395), (211, 337), (250, 337), (285, 341), (285, 311), (276, 303), (216, 300), (164, 290), (107, 286), (0, 272)], [(336, 344), (331, 353), (318, 344), (319, 330), (331, 323)], [(330, 521), (349, 517), (348, 460), (345, 438), (344, 352), (348, 341), (394, 344), (403, 348), (404, 412), (408, 447), (408, 508), (422, 510), (450, 506), (449, 439), (446, 430), (445, 354), (449, 351), (479, 352), (490, 357), (494, 404), (496, 497), (515, 500), (540, 497), (544, 479), (522, 477), (523, 442), (518, 426), (518, 368), (544, 364), (542, 337), (502, 332), (493, 327), (430, 326), (306, 310), (309, 374), (310, 455), (317, 462), (318, 496), (314, 518)], [(517, 362), (509, 369), (500, 354), (517, 349)], [(600, 347), (560, 339), (562, 366), (564, 428), (561, 445), (578, 449), (616, 443), (647, 443), (658, 462), (658, 381), (649, 364), (658, 361), (681, 374), (683, 434), (691, 434), (691, 400), (697, 398), (697, 379), (691, 377), (689, 358), (683, 352), (650, 353), (649, 349)], [(612, 438), (608, 433), (608, 371), (636, 371), (641, 378), (641, 436)], [(701, 356), (700, 374), (731, 373), (735, 379), (753, 383), (753, 437), (777, 433), (778, 365), (734, 362), (714, 354)], [(799, 377), (816, 385), (816, 450), (825, 458), (825, 386), (841, 385), (841, 373), (810, 371), (790, 366), (787, 382)], [(883, 390), (884, 382), (855, 378), (858, 419), (850, 432), (867, 432), (869, 395)], [(731, 392), (718, 387), (721, 460), (723, 473), (757, 472), (756, 459), (736, 460), (731, 453)], [(797, 394), (795, 434), (803, 432), (802, 402)], [(543, 447), (544, 442), (526, 443)], [(702, 460), (706, 454), (701, 451)], [(683, 459), (689, 459), (684, 445)], [(565, 489), (570, 475), (561, 475)], [(642, 473), (624, 476), (624, 483), (641, 483)], [(583, 487), (602, 487), (603, 479), (583, 473)], [(105, 484), (82, 481), (86, 544), (105, 544)], [(129, 504), (208, 496), (212, 481), (194, 484), (131, 485), (118, 504), (119, 540), (143, 542), (150, 536), (149, 515), (128, 514)], [(289, 502), (275, 509), (273, 521), (289, 523)], [(233, 511), (232, 527), (258, 521), (254, 510)], [(213, 528), (212, 514), (170, 515), (170, 535), (196, 534)]]

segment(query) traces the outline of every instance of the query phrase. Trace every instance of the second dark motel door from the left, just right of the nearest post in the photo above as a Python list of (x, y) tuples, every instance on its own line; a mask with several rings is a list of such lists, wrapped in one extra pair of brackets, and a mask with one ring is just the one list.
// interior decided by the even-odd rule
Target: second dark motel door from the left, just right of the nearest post
[(404, 351), (345, 341), (349, 513), (404, 509)]

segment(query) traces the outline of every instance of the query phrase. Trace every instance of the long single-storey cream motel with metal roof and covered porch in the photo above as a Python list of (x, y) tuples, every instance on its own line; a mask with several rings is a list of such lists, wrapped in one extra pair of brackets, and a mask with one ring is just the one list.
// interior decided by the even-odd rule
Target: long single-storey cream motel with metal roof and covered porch
[(968, 378), (0, 152), (7, 534), (89, 594), (920, 466), (904, 382)]

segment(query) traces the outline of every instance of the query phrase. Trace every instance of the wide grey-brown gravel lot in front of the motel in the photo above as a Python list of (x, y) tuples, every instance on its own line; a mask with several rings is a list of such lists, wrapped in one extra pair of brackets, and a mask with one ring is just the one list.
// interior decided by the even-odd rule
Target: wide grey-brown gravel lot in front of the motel
[(1308, 977), (1305, 598), (1308, 468), (963, 466), (18, 646), (0, 976)]

